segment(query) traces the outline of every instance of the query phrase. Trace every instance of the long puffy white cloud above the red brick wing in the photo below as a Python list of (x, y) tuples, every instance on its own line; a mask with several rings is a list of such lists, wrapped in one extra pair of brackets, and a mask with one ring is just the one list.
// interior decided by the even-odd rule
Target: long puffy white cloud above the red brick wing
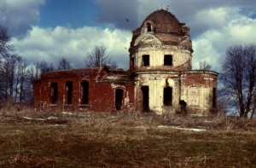
[[(66, 57), (74, 67), (84, 67), (84, 57), (96, 45), (105, 45), (119, 67), (128, 68), (131, 32), (84, 26), (79, 29), (57, 26), (43, 29), (33, 26), (26, 38), (12, 38), (16, 52), (29, 62), (57, 64)], [(126, 48), (126, 49), (125, 49)]]

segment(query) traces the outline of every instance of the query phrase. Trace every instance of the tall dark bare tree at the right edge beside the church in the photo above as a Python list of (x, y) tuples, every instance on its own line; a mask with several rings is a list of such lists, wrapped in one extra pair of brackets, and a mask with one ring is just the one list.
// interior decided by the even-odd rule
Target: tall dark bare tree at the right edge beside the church
[(238, 108), (240, 117), (253, 112), (256, 99), (256, 45), (233, 45), (226, 50), (220, 79), (224, 96)]

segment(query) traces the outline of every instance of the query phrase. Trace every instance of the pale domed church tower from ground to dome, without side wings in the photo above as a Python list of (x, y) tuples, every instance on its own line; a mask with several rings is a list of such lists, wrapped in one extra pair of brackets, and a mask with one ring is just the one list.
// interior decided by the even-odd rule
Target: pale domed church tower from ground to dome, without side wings
[(175, 113), (185, 106), (186, 111), (183, 81), (192, 71), (193, 53), (189, 27), (166, 10), (154, 11), (133, 31), (129, 51), (136, 110)]

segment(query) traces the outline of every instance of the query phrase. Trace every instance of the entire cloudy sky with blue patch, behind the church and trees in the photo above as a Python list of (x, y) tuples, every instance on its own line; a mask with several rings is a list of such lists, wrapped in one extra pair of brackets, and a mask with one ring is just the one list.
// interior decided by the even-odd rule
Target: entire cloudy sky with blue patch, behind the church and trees
[(84, 67), (86, 53), (105, 45), (127, 69), (131, 31), (157, 9), (190, 27), (193, 69), (207, 61), (219, 72), (230, 45), (256, 43), (255, 0), (1, 0), (0, 25), (29, 63), (66, 57)]

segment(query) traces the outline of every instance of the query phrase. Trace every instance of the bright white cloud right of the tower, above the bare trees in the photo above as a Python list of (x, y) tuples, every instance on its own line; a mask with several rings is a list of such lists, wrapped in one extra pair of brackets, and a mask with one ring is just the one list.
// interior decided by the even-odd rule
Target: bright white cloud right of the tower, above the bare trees
[(256, 43), (255, 26), (256, 20), (240, 16), (204, 32), (193, 41), (193, 67), (198, 68), (199, 61), (207, 61), (220, 72), (226, 49), (234, 44)]

